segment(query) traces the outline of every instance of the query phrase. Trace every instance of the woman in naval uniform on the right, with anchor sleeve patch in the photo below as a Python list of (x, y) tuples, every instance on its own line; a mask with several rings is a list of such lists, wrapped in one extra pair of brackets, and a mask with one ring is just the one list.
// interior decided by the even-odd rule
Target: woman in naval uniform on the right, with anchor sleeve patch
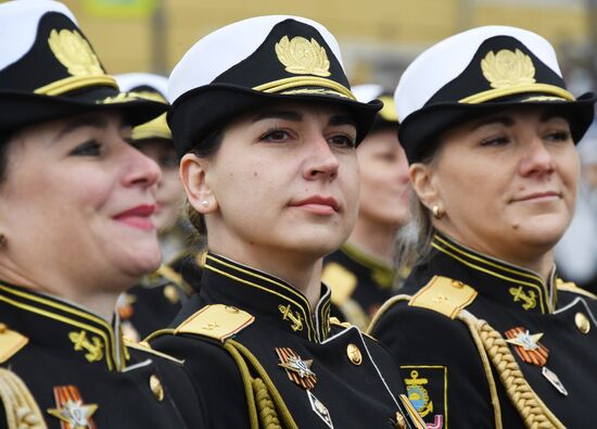
[(581, 428), (597, 400), (595, 296), (560, 279), (594, 98), (547, 40), (490, 26), (423, 52), (395, 92), (418, 265), (371, 332), (430, 428)]

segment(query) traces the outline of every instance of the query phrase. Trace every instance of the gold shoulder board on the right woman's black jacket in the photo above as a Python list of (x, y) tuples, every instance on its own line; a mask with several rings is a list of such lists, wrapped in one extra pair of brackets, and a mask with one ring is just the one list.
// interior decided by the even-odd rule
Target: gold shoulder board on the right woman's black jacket
[(432, 310), (453, 319), (462, 308), (470, 305), (475, 296), (477, 291), (461, 281), (433, 276), (431, 281), (410, 299), (408, 305)]

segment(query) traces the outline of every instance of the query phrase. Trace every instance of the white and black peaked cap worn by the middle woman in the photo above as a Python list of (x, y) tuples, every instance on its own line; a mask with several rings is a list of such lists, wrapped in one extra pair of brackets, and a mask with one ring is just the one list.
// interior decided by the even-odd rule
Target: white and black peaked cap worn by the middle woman
[(358, 144), (382, 104), (356, 100), (330, 31), (288, 15), (252, 17), (203, 37), (170, 74), (168, 100), (168, 124), (180, 155), (234, 117), (285, 101), (346, 109)]

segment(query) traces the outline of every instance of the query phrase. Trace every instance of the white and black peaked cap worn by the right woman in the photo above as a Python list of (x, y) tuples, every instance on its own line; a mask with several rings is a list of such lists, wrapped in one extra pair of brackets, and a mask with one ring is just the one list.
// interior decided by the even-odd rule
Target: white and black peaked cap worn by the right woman
[(447, 129), (521, 104), (557, 110), (579, 141), (593, 121), (595, 100), (568, 91), (546, 39), (521, 28), (486, 26), (421, 53), (402, 75), (394, 101), (398, 137), (412, 163), (432, 154)]

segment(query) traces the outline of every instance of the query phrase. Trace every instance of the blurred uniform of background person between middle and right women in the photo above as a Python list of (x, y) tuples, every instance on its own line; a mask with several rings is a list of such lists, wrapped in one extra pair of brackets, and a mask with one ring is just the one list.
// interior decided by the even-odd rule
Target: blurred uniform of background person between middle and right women
[(344, 243), (323, 260), (321, 281), (332, 291), (332, 316), (366, 329), (379, 307), (393, 295), (395, 272), (356, 248)]

